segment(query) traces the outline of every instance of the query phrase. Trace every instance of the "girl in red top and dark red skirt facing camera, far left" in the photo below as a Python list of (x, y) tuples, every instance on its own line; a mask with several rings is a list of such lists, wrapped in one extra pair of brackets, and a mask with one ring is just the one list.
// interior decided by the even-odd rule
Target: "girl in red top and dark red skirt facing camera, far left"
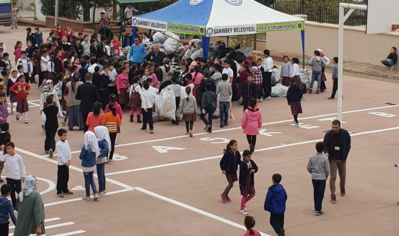
[(18, 80), (10, 90), (17, 94), (17, 120), (19, 120), (21, 114), (24, 114), (25, 123), (28, 124), (29, 105), (27, 98), (29, 90), (31, 90), (31, 86), (25, 82), (25, 76), (21, 75), (18, 77)]

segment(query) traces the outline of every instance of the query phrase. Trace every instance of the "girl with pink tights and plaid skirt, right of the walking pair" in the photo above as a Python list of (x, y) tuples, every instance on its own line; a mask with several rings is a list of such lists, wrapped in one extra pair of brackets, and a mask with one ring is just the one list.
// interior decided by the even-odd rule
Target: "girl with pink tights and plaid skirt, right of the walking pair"
[(242, 196), (240, 213), (243, 215), (248, 214), (246, 203), (255, 197), (254, 174), (258, 172), (258, 166), (251, 159), (251, 155), (251, 151), (244, 150), (242, 153), (243, 161), (240, 164), (239, 184)]

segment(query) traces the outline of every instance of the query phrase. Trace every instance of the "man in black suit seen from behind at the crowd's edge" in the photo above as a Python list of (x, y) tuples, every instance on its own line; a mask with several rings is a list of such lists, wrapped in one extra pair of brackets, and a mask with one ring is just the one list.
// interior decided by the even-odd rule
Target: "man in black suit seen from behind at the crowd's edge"
[(93, 111), (94, 103), (100, 101), (100, 94), (97, 87), (93, 85), (93, 74), (90, 72), (86, 73), (86, 82), (83, 85), (79, 85), (75, 99), (80, 101), (79, 112), (82, 113), (83, 117), (83, 132), (89, 130), (89, 126), (86, 125), (87, 116)]

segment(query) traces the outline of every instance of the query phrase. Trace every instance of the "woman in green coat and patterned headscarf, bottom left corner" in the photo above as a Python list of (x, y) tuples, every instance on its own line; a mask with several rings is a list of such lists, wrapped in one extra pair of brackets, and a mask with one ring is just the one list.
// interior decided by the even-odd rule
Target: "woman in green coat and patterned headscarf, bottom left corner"
[(30, 175), (25, 178), (22, 192), (18, 195), (18, 211), (15, 236), (44, 235), (44, 204), (37, 192), (37, 179)]

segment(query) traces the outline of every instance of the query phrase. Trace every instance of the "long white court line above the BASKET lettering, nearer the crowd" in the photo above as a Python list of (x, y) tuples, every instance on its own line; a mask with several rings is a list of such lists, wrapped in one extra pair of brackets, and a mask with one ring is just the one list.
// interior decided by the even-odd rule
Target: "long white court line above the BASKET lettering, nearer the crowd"
[[(366, 109), (361, 109), (361, 110), (346, 111), (346, 112), (343, 112), (342, 114), (366, 112), (366, 111), (380, 110), (380, 109), (393, 108), (393, 107), (399, 107), (399, 105), (390, 105), (390, 106), (384, 106), (384, 107), (374, 107), (374, 108), (366, 108)], [(314, 119), (314, 118), (321, 118), (321, 117), (331, 117), (331, 116), (334, 116), (334, 115), (337, 115), (337, 114), (336, 113), (330, 113), (330, 114), (324, 114), (324, 115), (318, 115), (318, 116), (312, 116), (312, 117), (303, 117), (303, 118), (298, 118), (298, 120)], [(293, 119), (272, 121), (272, 122), (263, 123), (262, 126), (272, 125), (272, 124), (281, 124), (281, 123), (287, 123), (287, 122), (292, 122), (292, 121), (293, 121)], [(238, 129), (241, 129), (241, 127), (233, 127), (233, 128), (228, 128), (228, 129), (212, 130), (212, 133), (220, 133), (220, 132), (226, 132), (226, 131), (232, 131), (232, 130), (238, 130)], [(194, 136), (199, 136), (199, 135), (204, 135), (204, 134), (209, 135), (209, 133), (203, 132), (203, 133), (194, 134)], [(139, 141), (139, 142), (134, 142), (134, 143), (129, 143), (129, 144), (119, 144), (119, 145), (115, 145), (115, 148), (132, 146), (132, 145), (139, 145), (139, 144), (148, 144), (148, 143), (154, 143), (154, 142), (158, 143), (158, 142), (162, 142), (162, 141), (168, 141), (168, 140), (180, 139), (180, 138), (187, 138), (187, 136), (186, 135), (180, 135), (180, 136), (163, 138), (163, 139), (153, 139), (153, 140), (145, 140), (145, 141)], [(72, 151), (71, 153), (72, 154), (80, 153), (80, 150)], [(56, 156), (56, 155), (57, 154), (54, 154), (54, 156)], [(43, 156), (47, 157), (48, 155), (43, 155)]]

